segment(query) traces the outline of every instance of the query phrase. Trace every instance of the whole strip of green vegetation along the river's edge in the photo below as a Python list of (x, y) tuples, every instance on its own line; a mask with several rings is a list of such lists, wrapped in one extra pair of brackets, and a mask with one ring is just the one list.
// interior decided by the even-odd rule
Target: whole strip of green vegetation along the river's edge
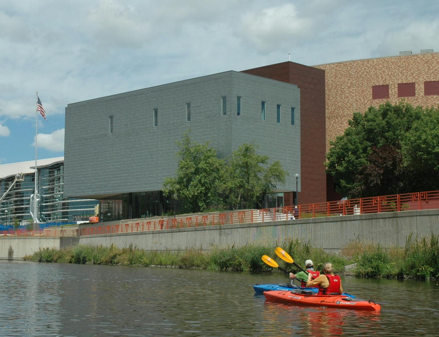
[[(422, 239), (411, 236), (407, 239), (405, 249), (384, 249), (375, 244), (353, 242), (337, 254), (329, 254), (321, 248), (312, 247), (309, 242), (297, 239), (280, 244), (299, 265), (306, 259), (314, 262), (316, 269), (321, 269), (324, 262), (330, 261), (338, 272), (344, 266), (356, 263), (353, 275), (359, 277), (387, 277), (416, 279), (438, 278), (439, 244), (438, 236)], [(179, 268), (200, 268), (208, 270), (247, 271), (247, 272), (281, 272), (273, 269), (262, 260), (262, 255), (269, 255), (277, 260), (281, 268), (298, 272), (294, 265), (277, 258), (275, 246), (270, 244), (246, 245), (244, 247), (214, 248), (210, 251), (191, 249), (189, 251), (145, 251), (130, 244), (129, 247), (110, 247), (76, 245), (57, 249), (41, 249), (24, 260), (34, 262), (64, 262), (97, 265), (140, 265), (173, 266)]]

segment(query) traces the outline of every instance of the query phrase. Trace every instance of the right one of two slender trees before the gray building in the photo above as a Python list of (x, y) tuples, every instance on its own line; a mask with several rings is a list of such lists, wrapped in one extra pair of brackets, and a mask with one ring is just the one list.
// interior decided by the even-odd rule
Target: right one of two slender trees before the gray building
[(223, 191), (234, 209), (241, 202), (254, 207), (262, 194), (272, 194), (277, 183), (285, 184), (288, 172), (279, 161), (268, 165), (269, 156), (257, 154), (257, 148), (244, 143), (227, 158)]

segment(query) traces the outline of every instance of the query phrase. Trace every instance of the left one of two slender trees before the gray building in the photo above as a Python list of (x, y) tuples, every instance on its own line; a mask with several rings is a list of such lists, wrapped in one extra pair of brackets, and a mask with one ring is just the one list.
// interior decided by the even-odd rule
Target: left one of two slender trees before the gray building
[(164, 180), (163, 192), (182, 201), (187, 212), (201, 212), (222, 203), (219, 193), (224, 161), (216, 157), (216, 150), (209, 143), (192, 141), (190, 130), (176, 141), (178, 167), (175, 176)]

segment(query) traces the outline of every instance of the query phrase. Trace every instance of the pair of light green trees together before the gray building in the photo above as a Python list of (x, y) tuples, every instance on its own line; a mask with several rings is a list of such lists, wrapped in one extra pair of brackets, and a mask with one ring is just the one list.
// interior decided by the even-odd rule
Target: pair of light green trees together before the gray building
[(181, 201), (187, 212), (225, 204), (254, 207), (288, 175), (279, 161), (269, 165), (270, 158), (257, 154), (259, 146), (253, 143), (242, 144), (226, 160), (217, 158), (209, 142), (192, 141), (190, 130), (176, 144), (177, 170), (164, 180), (163, 192)]

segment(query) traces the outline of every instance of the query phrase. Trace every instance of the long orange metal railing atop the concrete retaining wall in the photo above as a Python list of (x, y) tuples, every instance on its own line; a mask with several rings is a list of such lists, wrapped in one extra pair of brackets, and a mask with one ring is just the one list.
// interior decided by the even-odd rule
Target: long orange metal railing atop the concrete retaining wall
[(201, 226), (306, 219), (340, 215), (360, 215), (383, 212), (403, 212), (439, 209), (439, 191), (393, 194), (380, 197), (356, 198), (295, 206), (253, 209), (204, 215), (180, 216), (143, 222), (102, 225), (81, 229), (45, 229), (43, 231), (1, 231), (1, 237), (79, 237), (118, 233), (146, 232)]

